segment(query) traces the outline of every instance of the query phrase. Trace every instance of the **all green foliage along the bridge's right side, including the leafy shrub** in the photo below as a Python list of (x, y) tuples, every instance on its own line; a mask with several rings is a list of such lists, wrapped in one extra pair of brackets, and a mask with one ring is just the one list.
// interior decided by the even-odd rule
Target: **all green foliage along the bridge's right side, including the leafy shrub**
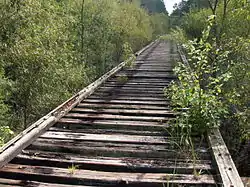
[(180, 82), (170, 87), (176, 109), (187, 109), (178, 125), (183, 133), (220, 126), (244, 174), (250, 154), (250, 3), (207, 0), (207, 8), (190, 10), (192, 1), (183, 2), (176, 9), (183, 12), (180, 27), (172, 31), (189, 63), (177, 65)]

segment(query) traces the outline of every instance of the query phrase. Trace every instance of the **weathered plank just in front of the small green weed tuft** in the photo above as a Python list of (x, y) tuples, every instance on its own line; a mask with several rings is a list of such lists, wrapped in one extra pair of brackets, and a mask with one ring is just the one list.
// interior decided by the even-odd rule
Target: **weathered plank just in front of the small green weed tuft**
[(9, 178), (22, 177), (23, 179), (37, 179), (38, 181), (57, 180), (65, 184), (102, 184), (102, 185), (129, 185), (129, 186), (161, 186), (163, 184), (210, 184), (215, 185), (212, 175), (182, 175), (165, 173), (124, 173), (124, 172), (101, 172), (76, 169), (73, 172), (69, 169), (55, 167), (41, 167), (29, 165), (8, 164), (4, 170), (0, 170), (0, 176)]

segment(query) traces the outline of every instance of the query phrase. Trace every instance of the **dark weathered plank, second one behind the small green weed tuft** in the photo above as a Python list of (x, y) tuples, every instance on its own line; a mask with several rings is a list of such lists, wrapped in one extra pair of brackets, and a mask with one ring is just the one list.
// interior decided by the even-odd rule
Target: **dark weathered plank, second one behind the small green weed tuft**
[[(28, 147), (28, 150), (74, 153), (85, 156), (193, 159), (192, 150), (182, 151), (174, 146), (174, 144), (165, 146), (39, 138)], [(211, 159), (206, 148), (197, 148), (195, 151), (197, 159)]]

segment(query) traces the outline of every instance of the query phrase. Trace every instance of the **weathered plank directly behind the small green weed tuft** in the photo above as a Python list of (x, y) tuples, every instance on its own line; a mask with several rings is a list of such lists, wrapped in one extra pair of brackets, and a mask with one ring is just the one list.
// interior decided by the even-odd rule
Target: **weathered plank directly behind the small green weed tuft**
[(192, 174), (194, 169), (203, 170), (207, 174), (214, 173), (212, 163), (198, 160), (193, 163), (190, 160), (167, 160), (167, 159), (146, 159), (146, 158), (112, 158), (112, 157), (83, 157), (66, 155), (53, 152), (30, 152), (26, 151), (18, 155), (13, 164), (27, 164), (36, 166), (52, 166), (68, 168), (76, 165), (78, 169), (89, 169), (109, 172), (168, 172), (174, 170), (179, 174)]

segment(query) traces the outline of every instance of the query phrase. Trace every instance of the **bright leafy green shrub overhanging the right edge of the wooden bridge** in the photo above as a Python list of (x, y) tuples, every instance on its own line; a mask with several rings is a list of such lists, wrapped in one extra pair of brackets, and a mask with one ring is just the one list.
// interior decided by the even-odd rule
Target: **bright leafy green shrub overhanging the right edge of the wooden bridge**
[[(175, 111), (181, 111), (174, 128), (188, 141), (191, 134), (204, 134), (220, 126), (227, 106), (222, 99), (222, 87), (231, 78), (229, 71), (220, 71), (228, 52), (214, 48), (210, 32), (214, 18), (209, 20), (200, 40), (188, 41), (183, 48), (187, 62), (179, 62), (174, 69), (178, 82), (165, 89)], [(216, 60), (213, 57), (216, 55)]]

